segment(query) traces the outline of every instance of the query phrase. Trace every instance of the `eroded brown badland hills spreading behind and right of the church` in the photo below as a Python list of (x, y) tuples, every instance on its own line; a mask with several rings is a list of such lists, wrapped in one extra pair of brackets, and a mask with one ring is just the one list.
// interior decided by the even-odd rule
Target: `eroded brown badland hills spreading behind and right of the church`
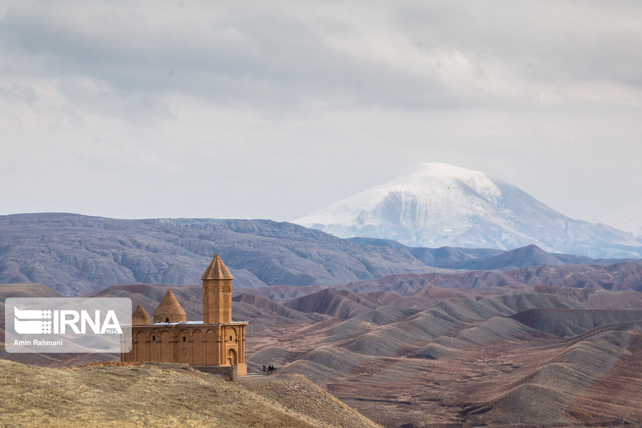
[[(265, 289), (245, 290), (232, 313), (250, 321), (248, 368), (256, 373), (274, 364), (280, 375), (304, 375), (385, 427), (642, 424), (642, 292), (524, 284), (451, 289), (421, 286), (423, 277), (367, 281), (369, 288), (417, 289), (404, 296), (279, 286), (266, 287), (270, 299), (261, 296)], [(166, 289), (117, 285), (92, 296), (129, 297), (152, 313)], [(187, 319), (199, 319), (200, 287), (172, 289)], [(0, 290), (15, 296), (47, 289)], [(299, 296), (287, 299), (293, 294)], [(0, 353), (58, 367), (118, 359)], [(275, 399), (290, 390), (252, 388)]]

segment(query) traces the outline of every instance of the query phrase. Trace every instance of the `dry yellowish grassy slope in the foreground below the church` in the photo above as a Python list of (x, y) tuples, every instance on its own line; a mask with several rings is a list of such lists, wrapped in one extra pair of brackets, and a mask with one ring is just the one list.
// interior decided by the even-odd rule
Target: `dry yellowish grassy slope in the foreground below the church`
[(245, 388), (179, 364), (52, 369), (4, 360), (0, 373), (3, 426), (379, 427), (301, 377)]

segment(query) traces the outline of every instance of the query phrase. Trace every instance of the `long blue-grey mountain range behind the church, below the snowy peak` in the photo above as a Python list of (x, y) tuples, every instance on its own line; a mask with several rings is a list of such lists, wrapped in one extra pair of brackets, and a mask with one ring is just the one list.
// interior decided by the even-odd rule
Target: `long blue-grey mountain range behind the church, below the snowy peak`
[(42, 283), (66, 296), (116, 284), (196, 285), (214, 253), (230, 267), (236, 287), (247, 288), (634, 260), (550, 254), (535, 245), (511, 251), (407, 247), (373, 238), (344, 240), (271, 220), (117, 220), (64, 213), (0, 217), (0, 283)]

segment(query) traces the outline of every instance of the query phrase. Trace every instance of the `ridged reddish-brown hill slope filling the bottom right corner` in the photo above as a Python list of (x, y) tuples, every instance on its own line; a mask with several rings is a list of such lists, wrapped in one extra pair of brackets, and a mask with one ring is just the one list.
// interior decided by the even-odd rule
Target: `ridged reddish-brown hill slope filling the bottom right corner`
[[(594, 328), (567, 341), (537, 349), (541, 361), (505, 376), (505, 386), (478, 384), (462, 409), (469, 422), (602, 426), (642, 423), (642, 323)], [(623, 366), (629, 372), (624, 375)], [(623, 388), (625, 387), (625, 388)], [(590, 402), (586, 396), (592, 397)], [(619, 406), (613, 406), (617, 402)], [(483, 416), (482, 416), (483, 415)]]

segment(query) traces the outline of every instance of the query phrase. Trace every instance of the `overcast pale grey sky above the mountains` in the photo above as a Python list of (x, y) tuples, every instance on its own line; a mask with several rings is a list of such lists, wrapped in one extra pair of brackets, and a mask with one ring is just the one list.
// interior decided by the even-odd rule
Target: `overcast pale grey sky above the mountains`
[(639, 1), (132, 3), (0, 2), (0, 214), (293, 220), (446, 162), (642, 226)]

